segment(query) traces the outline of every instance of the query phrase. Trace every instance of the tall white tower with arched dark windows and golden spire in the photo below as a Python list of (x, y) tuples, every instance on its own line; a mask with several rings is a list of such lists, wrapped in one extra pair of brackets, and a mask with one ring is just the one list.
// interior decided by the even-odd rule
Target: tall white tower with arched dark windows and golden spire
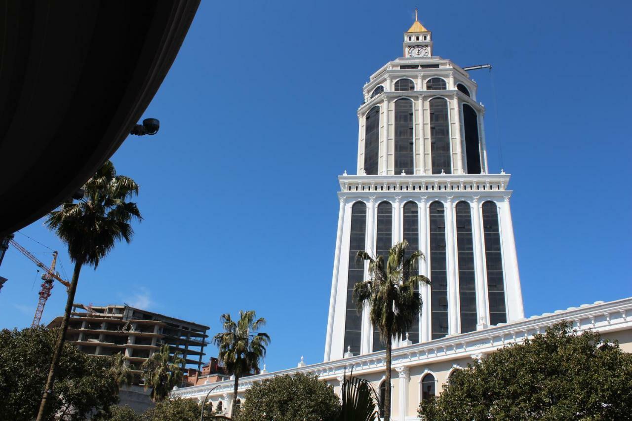
[(420, 291), (413, 344), (524, 317), (509, 174), (488, 171), (477, 84), (433, 55), (432, 33), (417, 20), (403, 52), (365, 84), (357, 173), (338, 177), (325, 362), (384, 349), (353, 302), (353, 286), (368, 279), (356, 253), (386, 255), (402, 240), (423, 252), (420, 273), (432, 283)]

